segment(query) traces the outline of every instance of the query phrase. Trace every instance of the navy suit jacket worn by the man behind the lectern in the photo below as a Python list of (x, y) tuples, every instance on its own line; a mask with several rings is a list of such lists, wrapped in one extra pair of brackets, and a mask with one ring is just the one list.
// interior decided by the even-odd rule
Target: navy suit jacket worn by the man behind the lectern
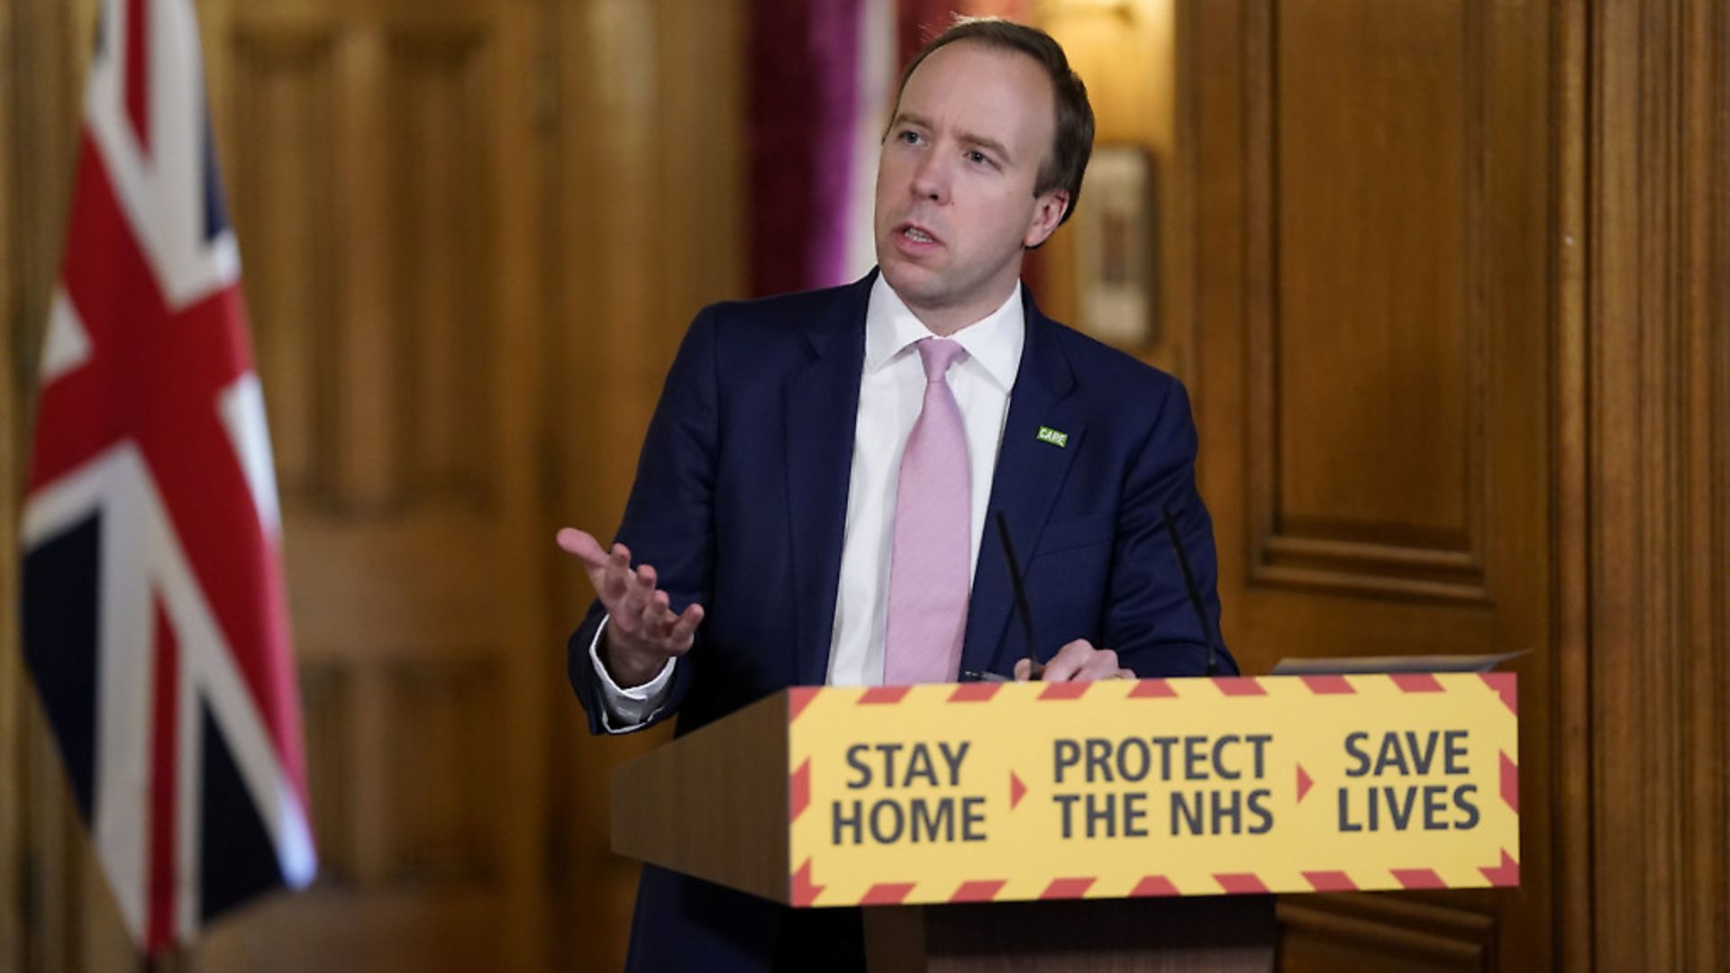
[[(704, 308), (668, 372), (618, 540), (654, 564), (675, 611), (706, 609), (657, 715), (676, 713), (680, 734), (825, 680), (874, 279)], [(1009, 521), (1038, 651), (1050, 658), (1088, 639), (1142, 677), (1201, 675), (1208, 639), (1163, 514), (1168, 506), (1176, 519), (1218, 630), (1213, 523), (1195, 492), (1183, 386), (1048, 320), (1022, 294), (1026, 341), (988, 514)], [(1041, 426), (1067, 435), (1064, 445), (1043, 441)], [(988, 521), (962, 672), (1009, 673), (1026, 654), (1012, 599)], [(602, 616), (597, 602), (569, 642), (571, 684), (593, 732), (602, 699), (588, 646)], [(1223, 648), (1220, 672), (1235, 672)], [(778, 964), (804, 966), (811, 957), (796, 956), (784, 928), (803, 921), (649, 867), (631, 966), (766, 970), (777, 944)]]

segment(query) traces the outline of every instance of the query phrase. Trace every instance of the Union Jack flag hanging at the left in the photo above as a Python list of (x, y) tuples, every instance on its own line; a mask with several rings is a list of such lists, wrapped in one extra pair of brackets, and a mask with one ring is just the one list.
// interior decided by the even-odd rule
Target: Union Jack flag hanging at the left
[(189, 0), (106, 0), (24, 500), (24, 656), (133, 940), (317, 867), (280, 518)]

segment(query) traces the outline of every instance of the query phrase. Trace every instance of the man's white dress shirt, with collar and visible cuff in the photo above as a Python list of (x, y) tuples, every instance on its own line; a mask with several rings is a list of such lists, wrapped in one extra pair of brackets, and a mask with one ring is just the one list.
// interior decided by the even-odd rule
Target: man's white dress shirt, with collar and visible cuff
[[(848, 519), (841, 542), (841, 583), (836, 623), (829, 642), (830, 686), (882, 682), (882, 637), (889, 608), (889, 547), (894, 533), (894, 488), (901, 450), (926, 395), (926, 372), (913, 343), (934, 338), (893, 287), (877, 275), (865, 310), (865, 367), (860, 372), (860, 409), (853, 426), (853, 473), (848, 480)], [(967, 429), (967, 469), (972, 486), (972, 551), (979, 563), (991, 474), (1009, 419), (1009, 393), (1021, 369), (1026, 320), (1021, 284), (995, 312), (950, 336), (967, 357), (950, 367), (948, 383)], [(600, 630), (606, 630), (602, 622)], [(609, 732), (637, 729), (666, 701), (676, 660), (644, 686), (619, 687), (600, 663), (595, 642), (588, 654), (600, 675)]]

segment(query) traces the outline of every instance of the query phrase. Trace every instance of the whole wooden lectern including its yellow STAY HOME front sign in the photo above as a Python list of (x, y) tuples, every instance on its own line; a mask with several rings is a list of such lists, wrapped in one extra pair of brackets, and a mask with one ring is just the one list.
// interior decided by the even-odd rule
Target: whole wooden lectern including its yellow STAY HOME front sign
[(1507, 673), (796, 687), (614, 772), (612, 848), (887, 970), (1272, 970), (1273, 893), (1519, 885)]

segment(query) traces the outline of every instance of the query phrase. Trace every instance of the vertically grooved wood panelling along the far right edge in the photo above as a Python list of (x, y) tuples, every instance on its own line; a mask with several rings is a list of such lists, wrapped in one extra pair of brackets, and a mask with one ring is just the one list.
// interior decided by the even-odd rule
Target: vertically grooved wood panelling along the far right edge
[(1730, 952), (1730, 17), (1605, 3), (1595, 26), (1590, 952), (1604, 968), (1708, 968)]

